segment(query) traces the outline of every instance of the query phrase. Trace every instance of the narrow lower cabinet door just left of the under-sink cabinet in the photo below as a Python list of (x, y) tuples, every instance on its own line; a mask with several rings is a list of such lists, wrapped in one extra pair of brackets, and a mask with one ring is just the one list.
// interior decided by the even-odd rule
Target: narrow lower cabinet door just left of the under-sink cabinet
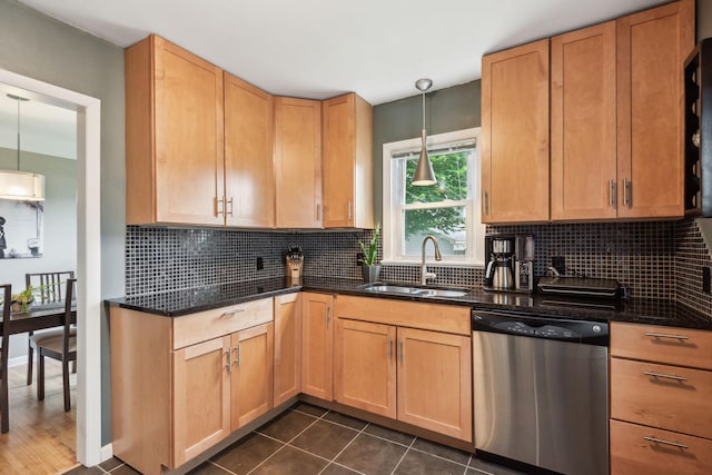
[(334, 297), (301, 294), (301, 392), (332, 400)]

